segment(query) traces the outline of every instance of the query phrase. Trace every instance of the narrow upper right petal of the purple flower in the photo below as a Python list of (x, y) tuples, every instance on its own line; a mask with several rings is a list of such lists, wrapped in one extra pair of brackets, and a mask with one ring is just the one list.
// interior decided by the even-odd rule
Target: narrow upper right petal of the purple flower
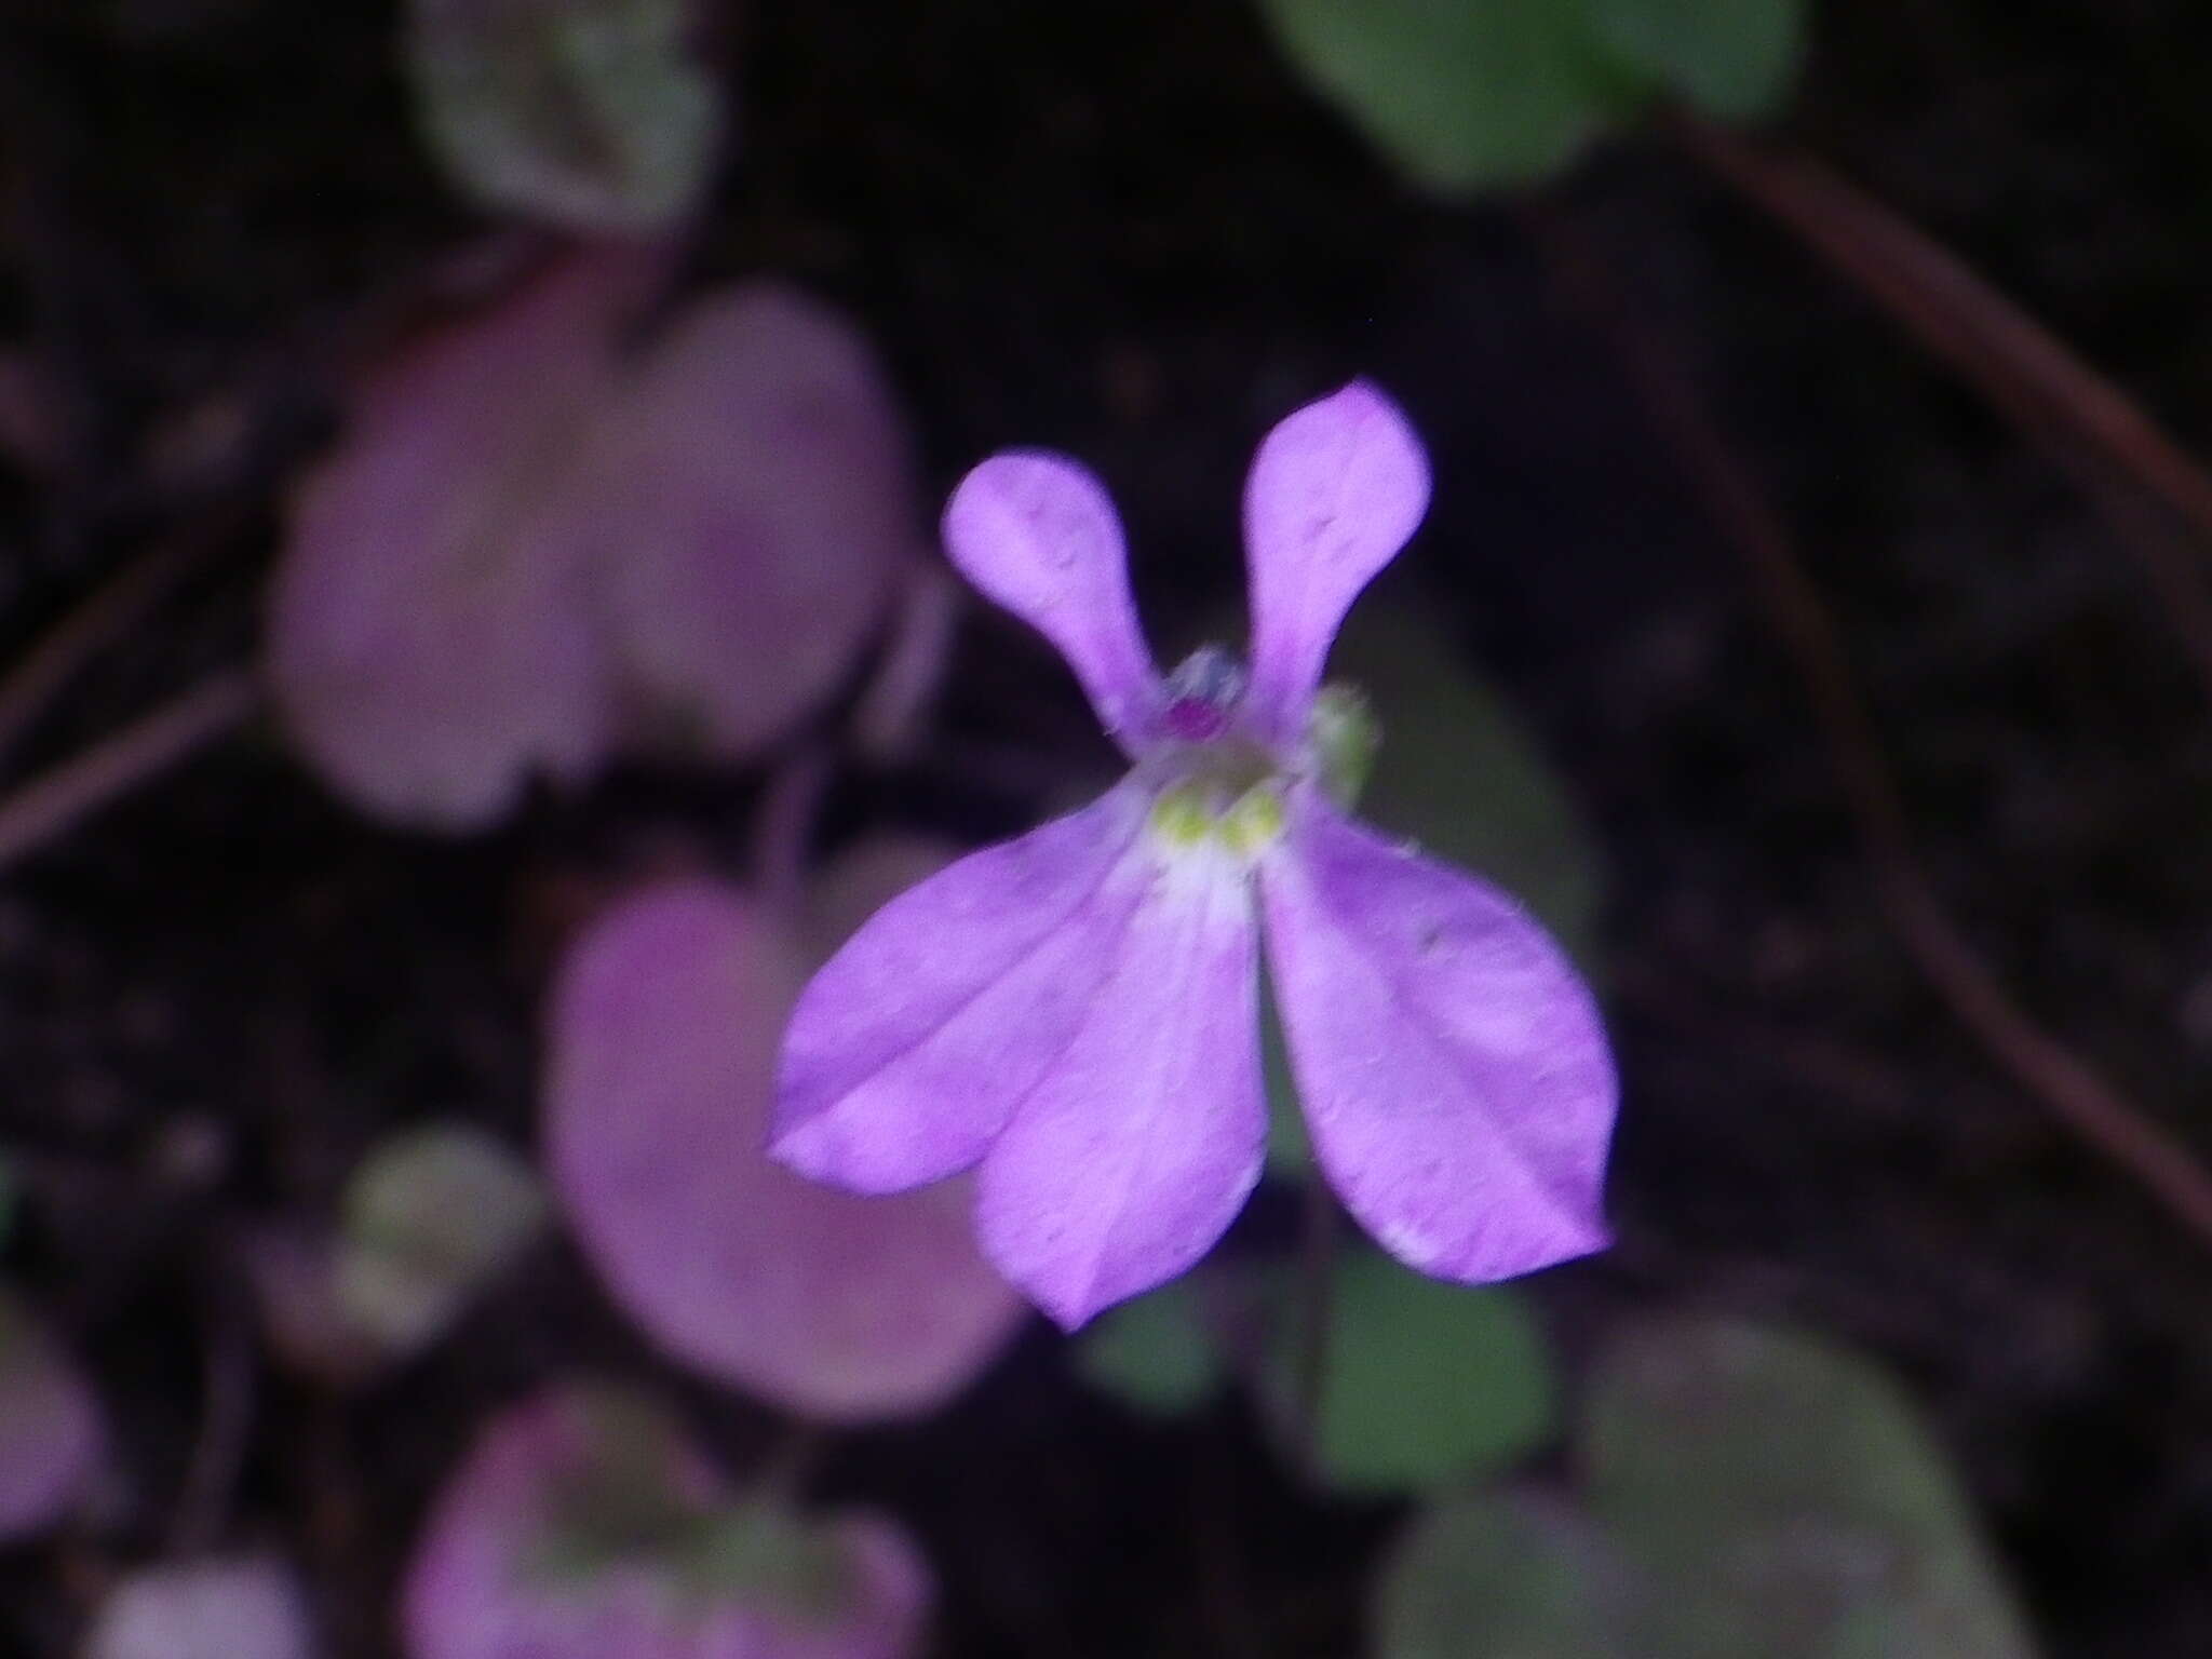
[(1265, 732), (1296, 737), (1336, 624), (1429, 511), (1429, 458), (1367, 380), (1267, 434), (1245, 480), (1252, 690)]

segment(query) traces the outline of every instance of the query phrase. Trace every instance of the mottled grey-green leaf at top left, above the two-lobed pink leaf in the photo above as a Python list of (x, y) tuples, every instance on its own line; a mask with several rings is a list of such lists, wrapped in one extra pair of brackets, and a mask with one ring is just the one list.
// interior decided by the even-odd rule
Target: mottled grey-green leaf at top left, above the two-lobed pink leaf
[(431, 150), (491, 208), (577, 230), (679, 219), (708, 181), (721, 93), (688, 0), (411, 0)]

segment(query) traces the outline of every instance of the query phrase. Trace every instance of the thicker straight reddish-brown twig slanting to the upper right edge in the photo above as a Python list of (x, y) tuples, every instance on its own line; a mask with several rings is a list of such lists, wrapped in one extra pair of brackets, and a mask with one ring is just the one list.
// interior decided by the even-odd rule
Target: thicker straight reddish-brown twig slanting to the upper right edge
[(2212, 575), (2141, 500), (2212, 549), (2212, 471), (1964, 261), (1812, 157), (1688, 111), (1666, 131), (2039, 440), (2135, 553), (2212, 688)]

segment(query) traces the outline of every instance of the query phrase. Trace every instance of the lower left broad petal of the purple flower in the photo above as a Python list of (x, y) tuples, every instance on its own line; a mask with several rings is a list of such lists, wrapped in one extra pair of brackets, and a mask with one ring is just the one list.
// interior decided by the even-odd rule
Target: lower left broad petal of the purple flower
[(1113, 790), (876, 911), (785, 1029), (774, 1157), (854, 1192), (980, 1159), (1113, 964), (1144, 896), (1144, 812)]

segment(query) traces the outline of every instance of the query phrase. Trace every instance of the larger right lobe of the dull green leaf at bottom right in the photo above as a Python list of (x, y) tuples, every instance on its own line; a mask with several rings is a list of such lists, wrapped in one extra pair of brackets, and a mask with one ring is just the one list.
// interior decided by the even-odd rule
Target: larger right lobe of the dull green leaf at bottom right
[(1679, 1321), (1590, 1387), (1590, 1506), (1663, 1577), (1657, 1659), (2024, 1659), (1944, 1458), (1878, 1367)]

